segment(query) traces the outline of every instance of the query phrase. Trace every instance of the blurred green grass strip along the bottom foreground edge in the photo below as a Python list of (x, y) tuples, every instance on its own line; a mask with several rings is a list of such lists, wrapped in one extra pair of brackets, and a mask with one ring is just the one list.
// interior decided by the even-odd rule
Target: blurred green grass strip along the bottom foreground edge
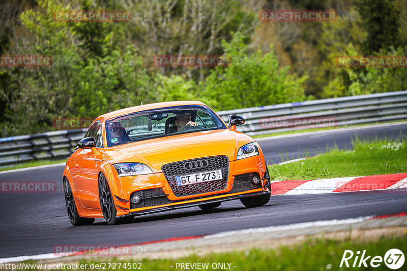
[[(390, 270), (384, 261), (379, 262), (380, 266), (373, 268), (370, 266), (370, 260), (374, 256), (380, 256), (384, 259), (388, 250), (397, 248), (401, 251), (407, 251), (407, 235), (402, 236), (387, 236), (381, 237), (376, 240), (351, 240), (346, 238), (345, 240), (331, 240), (331, 239), (308, 239), (305, 242), (297, 243), (290, 246), (281, 246), (277, 249), (250, 249), (245, 251), (235, 251), (228, 253), (211, 253), (205, 256), (191, 255), (188, 257), (182, 257), (177, 259), (142, 259), (139, 261), (133, 259), (119, 260), (112, 259), (107, 263), (103, 260), (89, 260), (82, 259), (79, 264), (86, 264), (88, 269), (98, 269), (102, 264), (105, 269), (113, 269), (113, 263), (115, 270), (126, 270), (127, 266), (133, 266), (136, 263), (142, 270), (195, 270), (197, 268), (181, 268), (181, 263), (208, 263), (208, 268), (202, 268), (205, 270), (219, 270), (224, 269), (220, 266), (226, 267), (230, 270), (360, 270), (360, 269), (374, 269), (374, 270)], [(342, 256), (345, 250), (352, 250), (354, 257), (348, 260), (350, 267), (346, 267), (344, 264), (339, 267)], [(352, 267), (356, 252), (365, 252), (365, 257), (371, 256), (367, 261), (368, 267), (358, 268), (359, 260), (356, 263), (356, 267)], [(362, 253), (361, 253), (362, 254)], [(349, 256), (347, 254), (346, 256)], [(28, 261), (27, 261), (28, 262)], [(35, 261), (29, 261), (35, 263)], [(109, 266), (110, 262), (110, 267)], [(93, 264), (93, 265), (92, 265)], [(119, 264), (121, 265), (119, 267)], [(223, 264), (223, 265), (219, 265)], [(229, 265), (230, 264), (230, 265)], [(377, 262), (376, 262), (377, 264)], [(405, 266), (406, 263), (404, 263)], [(123, 266), (126, 265), (126, 268)], [(93, 266), (93, 268), (90, 268)], [(185, 266), (185, 265), (184, 265)], [(178, 267), (178, 268), (177, 268)], [(133, 268), (131, 268), (133, 269)], [(402, 269), (402, 268), (401, 268)], [(401, 270), (400, 269), (400, 270)]]

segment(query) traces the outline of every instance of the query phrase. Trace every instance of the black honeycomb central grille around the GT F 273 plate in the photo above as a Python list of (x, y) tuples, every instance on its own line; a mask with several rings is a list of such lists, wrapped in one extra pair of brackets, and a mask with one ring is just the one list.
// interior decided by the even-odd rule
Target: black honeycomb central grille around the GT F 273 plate
[[(186, 170), (184, 168), (185, 162), (194, 162), (198, 160), (205, 159), (208, 161), (208, 166), (202, 169), (195, 169), (195, 170)], [(207, 172), (207, 171), (214, 171), (214, 170), (222, 170), (222, 180), (217, 181), (210, 181), (204, 183), (197, 183), (197, 184), (190, 184), (184, 186), (177, 186), (177, 182), (175, 180), (176, 176), (183, 176), (189, 175), (199, 172)], [(227, 156), (213, 156), (213, 157), (205, 157), (205, 158), (198, 158), (192, 159), (187, 161), (180, 161), (170, 164), (165, 164), (162, 166), (162, 172), (164, 173), (165, 178), (169, 186), (172, 189), (172, 192), (176, 196), (185, 196), (185, 195), (194, 195), (212, 191), (223, 190), (226, 188), (227, 177), (229, 172), (229, 159)]]

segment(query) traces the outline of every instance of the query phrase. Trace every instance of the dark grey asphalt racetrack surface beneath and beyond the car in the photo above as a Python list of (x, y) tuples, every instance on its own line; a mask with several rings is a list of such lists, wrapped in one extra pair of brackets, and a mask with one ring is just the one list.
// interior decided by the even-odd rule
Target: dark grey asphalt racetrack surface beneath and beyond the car
[[(319, 131), (259, 140), (267, 160), (315, 155), (335, 144), (350, 149), (352, 139), (390, 138), (407, 134), (407, 123), (367, 126), (348, 131)], [(68, 220), (61, 179), (64, 166), (0, 174), (0, 181), (56, 181), (55, 193), (0, 194), (0, 258), (52, 253), (61, 245), (128, 245), (172, 237), (213, 234), (272, 225), (389, 215), (407, 211), (405, 191), (366, 191), (317, 195), (276, 195), (264, 206), (246, 209), (240, 201), (223, 202), (203, 212), (198, 207), (136, 217), (133, 223), (109, 226), (103, 219), (73, 227)]]

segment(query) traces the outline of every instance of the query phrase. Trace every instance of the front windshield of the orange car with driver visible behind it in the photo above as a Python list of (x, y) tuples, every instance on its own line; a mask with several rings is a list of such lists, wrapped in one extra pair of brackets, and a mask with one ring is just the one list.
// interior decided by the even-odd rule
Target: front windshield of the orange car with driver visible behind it
[(206, 106), (178, 106), (146, 110), (106, 121), (107, 146), (213, 129), (223, 122)]

